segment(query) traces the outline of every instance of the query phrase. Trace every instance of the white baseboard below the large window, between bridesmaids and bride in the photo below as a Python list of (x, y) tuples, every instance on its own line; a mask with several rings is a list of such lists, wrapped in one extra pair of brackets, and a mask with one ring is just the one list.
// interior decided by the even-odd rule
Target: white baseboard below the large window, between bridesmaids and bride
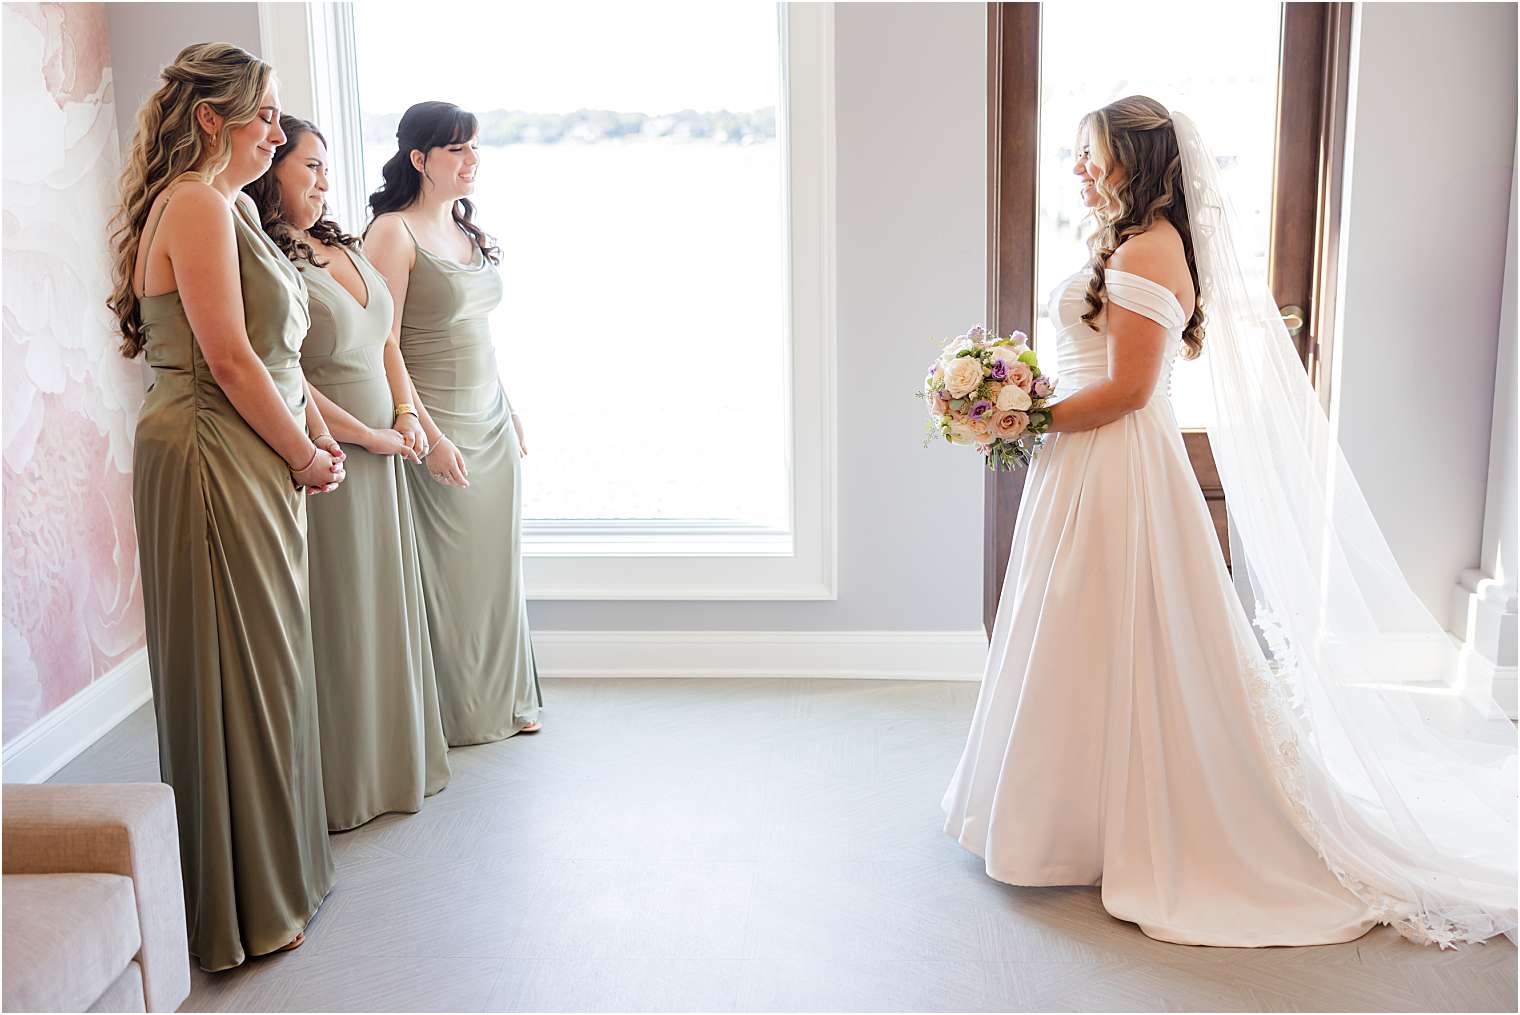
[(980, 631), (535, 631), (543, 676), (979, 681)]

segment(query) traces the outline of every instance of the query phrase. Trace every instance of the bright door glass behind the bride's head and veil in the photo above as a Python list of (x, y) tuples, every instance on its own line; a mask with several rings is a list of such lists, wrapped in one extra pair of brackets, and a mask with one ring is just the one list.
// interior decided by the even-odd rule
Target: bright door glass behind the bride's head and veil
[[(1046, 3), (1040, 14), (1040, 222), (1041, 348), (1055, 348), (1044, 299), (1087, 261), (1085, 208), (1072, 175), (1072, 144), (1084, 112), (1123, 96), (1146, 94), (1190, 115), (1208, 138), (1245, 236), (1248, 270), (1266, 278), (1277, 137), (1281, 6), (1240, 3)], [(1207, 313), (1207, 307), (1205, 307)], [(1207, 368), (1178, 360), (1172, 404), (1183, 427), (1204, 427), (1211, 412)]]

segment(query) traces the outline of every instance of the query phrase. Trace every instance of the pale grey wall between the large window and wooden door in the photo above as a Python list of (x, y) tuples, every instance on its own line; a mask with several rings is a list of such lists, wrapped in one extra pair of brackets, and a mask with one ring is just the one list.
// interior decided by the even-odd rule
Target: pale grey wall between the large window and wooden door
[(836, 8), (839, 599), (534, 602), (535, 631), (976, 631), (982, 476), (914, 391), (986, 304), (986, 14)]

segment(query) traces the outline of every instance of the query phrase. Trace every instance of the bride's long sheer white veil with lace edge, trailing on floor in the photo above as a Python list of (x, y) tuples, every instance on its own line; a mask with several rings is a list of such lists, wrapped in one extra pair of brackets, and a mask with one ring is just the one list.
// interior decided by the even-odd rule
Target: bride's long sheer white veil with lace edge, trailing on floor
[(1218, 163), (1190, 119), (1172, 122), (1274, 773), (1330, 871), (1401, 934), (1514, 941), (1515, 728), (1400, 571), (1277, 302), (1240, 267)]

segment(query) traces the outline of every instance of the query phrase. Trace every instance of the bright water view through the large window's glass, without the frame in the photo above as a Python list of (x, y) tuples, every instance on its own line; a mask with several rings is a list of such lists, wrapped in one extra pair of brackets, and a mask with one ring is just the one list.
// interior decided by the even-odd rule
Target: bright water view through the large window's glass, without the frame
[(775, 8), (453, 6), (356, 6), (365, 184), (410, 103), (479, 115), (529, 524), (786, 526)]

